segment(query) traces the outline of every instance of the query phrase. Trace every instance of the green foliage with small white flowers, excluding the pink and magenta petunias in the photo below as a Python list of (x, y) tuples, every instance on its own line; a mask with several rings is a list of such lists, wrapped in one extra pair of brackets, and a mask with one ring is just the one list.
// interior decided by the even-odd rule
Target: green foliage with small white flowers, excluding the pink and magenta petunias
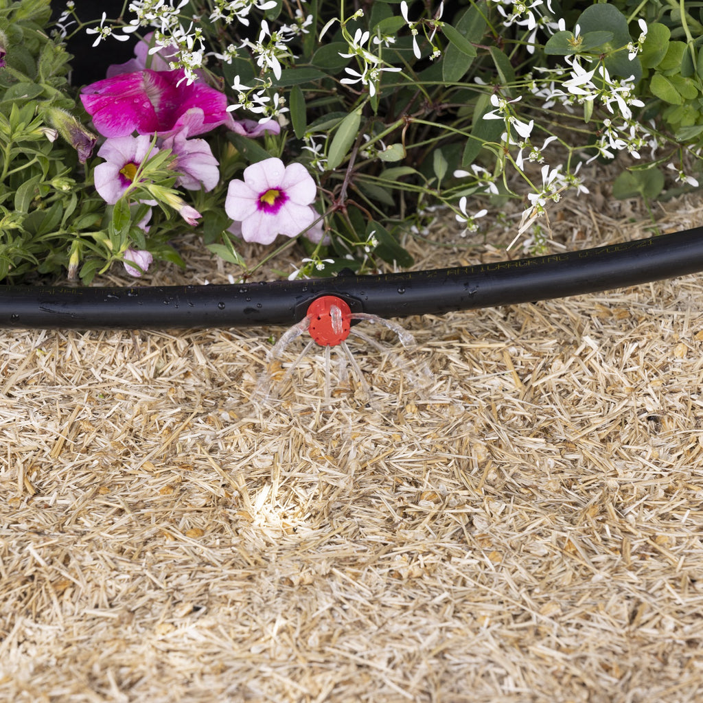
[[(434, 0), (367, 3), (353, 15), (351, 4), (316, 0), (295, 5), (299, 18), (277, 2), (249, 8), (248, 23), (218, 20), (214, 10), (225, 16), (229, 5), (191, 0), (168, 20), (192, 30), (177, 60), (221, 86), (238, 106), (233, 117), (275, 119), (280, 134), (202, 136), (221, 174), (209, 193), (176, 188), (162, 149), (107, 205), (93, 187), (101, 159), (79, 159), (89, 119), (67, 82), (70, 55), (52, 33), (49, 0), (0, 0), (0, 280), (67, 272), (89, 283), (129, 248), (182, 264), (170, 242), (186, 228), (174, 217), (183, 207), (202, 213), (203, 246), (246, 277), (269, 254), (245, 260), (224, 213), (228, 183), (274, 156), (302, 163), (318, 186), (323, 231), (300, 237), (307, 275), (410, 266), (404, 233), (437, 206), (472, 231), (480, 214), (467, 209), (470, 196), (523, 198), (511, 190), (512, 172), (530, 191), (520, 232), (580, 187), (579, 165), (594, 157), (640, 158), (614, 182), (618, 198), (655, 198), (672, 179), (695, 183), (683, 162), (703, 147), (703, 2), (465, 0), (445, 3), (440, 16)], [(189, 29), (196, 14), (200, 24)], [(74, 11), (71, 31), (99, 34), (98, 15)], [(133, 19), (126, 11), (105, 29), (120, 32)], [(144, 20), (137, 34), (152, 29)], [(102, 39), (114, 41), (108, 34)], [(209, 63), (198, 65), (203, 56)], [(558, 145), (560, 162), (549, 161), (545, 143)], [(146, 200), (159, 206), (148, 230)]]

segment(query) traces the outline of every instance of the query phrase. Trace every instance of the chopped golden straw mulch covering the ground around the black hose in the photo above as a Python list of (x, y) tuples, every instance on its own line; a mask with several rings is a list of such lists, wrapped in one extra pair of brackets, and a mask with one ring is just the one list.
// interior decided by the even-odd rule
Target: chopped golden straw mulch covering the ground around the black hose
[[(647, 234), (592, 190), (548, 250)], [(433, 236), (418, 268), (504, 255)], [(226, 280), (193, 260), (150, 280)], [(0, 700), (700, 700), (702, 299), (365, 323), (368, 403), (320, 350), (252, 401), (280, 329), (4, 332)]]

